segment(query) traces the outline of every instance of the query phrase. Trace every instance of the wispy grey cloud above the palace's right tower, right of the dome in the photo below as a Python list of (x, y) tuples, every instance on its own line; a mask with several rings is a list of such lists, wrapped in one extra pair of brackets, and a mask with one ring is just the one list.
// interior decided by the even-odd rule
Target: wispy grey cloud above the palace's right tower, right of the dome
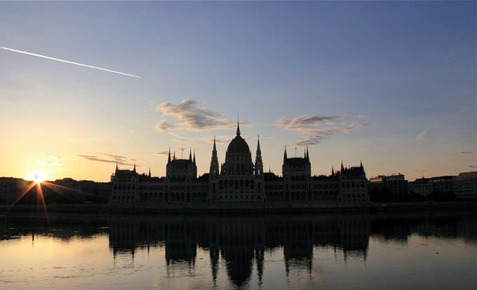
[(293, 146), (305, 146), (321, 143), (334, 134), (347, 133), (359, 127), (368, 125), (354, 119), (363, 116), (318, 116), (303, 115), (293, 119), (281, 118), (276, 120), (276, 127), (281, 130), (298, 132), (302, 140), (294, 142)]

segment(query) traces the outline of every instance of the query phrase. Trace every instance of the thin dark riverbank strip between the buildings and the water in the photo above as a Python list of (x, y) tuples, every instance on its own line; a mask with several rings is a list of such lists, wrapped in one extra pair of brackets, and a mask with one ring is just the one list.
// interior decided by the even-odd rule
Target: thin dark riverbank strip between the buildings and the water
[[(111, 207), (101, 204), (47, 205), (49, 213), (72, 214), (230, 214), (230, 213), (332, 213), (332, 212), (477, 212), (477, 201), (471, 202), (369, 202), (362, 205), (328, 203), (283, 203), (283, 204), (169, 204), (162, 207)], [(38, 205), (0, 206), (1, 214), (43, 212)]]

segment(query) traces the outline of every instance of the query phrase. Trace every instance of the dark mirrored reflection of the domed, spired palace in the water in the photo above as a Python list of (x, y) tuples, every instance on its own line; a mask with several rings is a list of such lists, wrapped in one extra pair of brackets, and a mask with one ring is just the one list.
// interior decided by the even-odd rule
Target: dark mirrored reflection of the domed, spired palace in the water
[(290, 268), (313, 267), (314, 247), (342, 251), (344, 257), (363, 261), (368, 251), (370, 219), (367, 216), (161, 216), (112, 217), (108, 220), (109, 247), (113, 254), (162, 246), (168, 268), (194, 270), (197, 247), (209, 251), (213, 282), (220, 259), (236, 286), (246, 284), (255, 263), (262, 281), (265, 249), (283, 248), (285, 274)]

